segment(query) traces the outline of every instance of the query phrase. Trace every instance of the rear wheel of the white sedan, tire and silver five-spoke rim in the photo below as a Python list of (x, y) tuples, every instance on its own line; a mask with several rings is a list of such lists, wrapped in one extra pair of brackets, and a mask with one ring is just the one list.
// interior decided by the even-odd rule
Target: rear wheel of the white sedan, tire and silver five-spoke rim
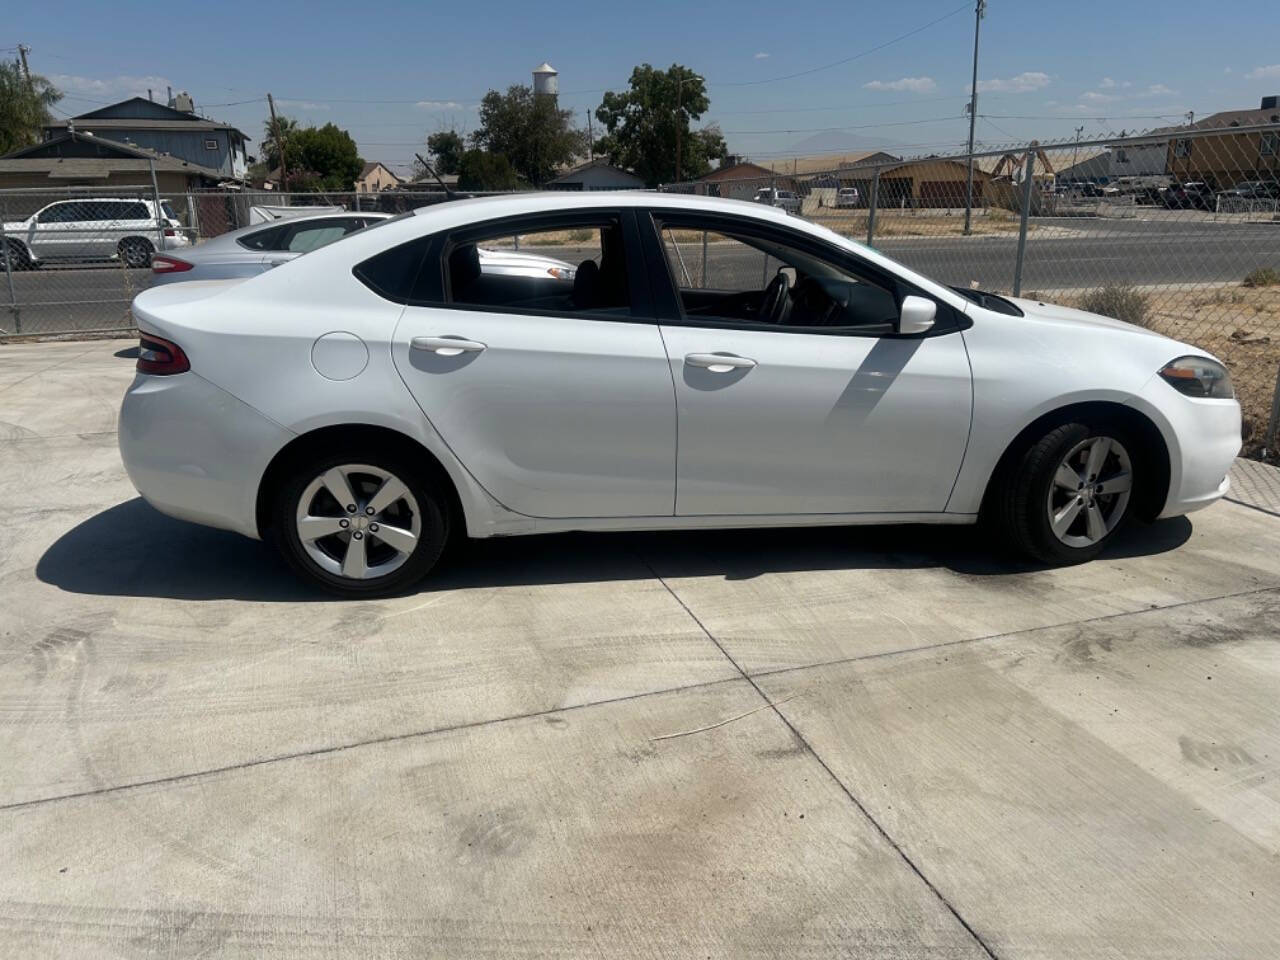
[(343, 596), (403, 590), (435, 566), (449, 535), (447, 500), (399, 457), (310, 458), (280, 485), (271, 535), (303, 577)]

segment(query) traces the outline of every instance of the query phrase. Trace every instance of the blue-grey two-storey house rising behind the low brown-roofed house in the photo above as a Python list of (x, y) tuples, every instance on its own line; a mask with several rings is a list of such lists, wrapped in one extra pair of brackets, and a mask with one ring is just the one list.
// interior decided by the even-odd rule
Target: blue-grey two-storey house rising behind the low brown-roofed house
[(146, 97), (131, 97), (58, 120), (45, 125), (45, 140), (58, 140), (72, 132), (92, 133), (159, 156), (186, 160), (214, 170), (224, 180), (243, 180), (248, 169), (248, 138), (230, 124), (197, 115), (187, 93), (173, 97), (169, 106)]

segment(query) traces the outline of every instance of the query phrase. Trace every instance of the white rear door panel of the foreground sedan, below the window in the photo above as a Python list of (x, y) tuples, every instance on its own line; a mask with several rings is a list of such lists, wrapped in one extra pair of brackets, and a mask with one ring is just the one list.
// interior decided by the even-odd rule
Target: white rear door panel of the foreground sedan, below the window
[[(472, 343), (436, 352), (438, 338)], [(508, 509), (671, 516), (675, 398), (654, 324), (408, 306), (393, 349), (428, 420)]]

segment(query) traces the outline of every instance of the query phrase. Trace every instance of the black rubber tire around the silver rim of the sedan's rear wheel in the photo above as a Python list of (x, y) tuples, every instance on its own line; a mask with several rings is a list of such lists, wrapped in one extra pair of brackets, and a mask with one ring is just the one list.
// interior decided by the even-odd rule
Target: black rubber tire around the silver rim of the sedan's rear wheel
[[(332, 572), (320, 563), (303, 547), (302, 536), (298, 532), (297, 511), (300, 500), (306, 495), (307, 489), (325, 471), (333, 467), (347, 465), (367, 465), (390, 474), (399, 479), (408, 488), (419, 508), (420, 532), (417, 544), (401, 566), (389, 573), (371, 576), (365, 580), (355, 580), (340, 573)], [(355, 476), (355, 474), (353, 474)], [(356, 485), (361, 483), (358, 477), (352, 483), (352, 490), (361, 498), (361, 490)], [(365, 488), (370, 493), (375, 488)], [(271, 506), (269, 538), (284, 557), (285, 562), (305, 580), (316, 584), (329, 593), (349, 598), (387, 596), (401, 593), (422, 577), (425, 577), (439, 561), (440, 554), (451, 536), (451, 511), (448, 498), (444, 492), (436, 489), (435, 484), (425, 476), (419, 465), (396, 456), (394, 453), (372, 453), (352, 451), (347, 453), (308, 456), (300, 458), (284, 475)], [(364, 507), (364, 500), (357, 504), (357, 513)], [(310, 509), (307, 511), (311, 512)], [(334, 516), (343, 516), (340, 512)], [(335, 534), (329, 540), (326, 549), (337, 549), (339, 543), (349, 540), (352, 534)], [(378, 545), (376, 534), (366, 534), (369, 549), (372, 552)], [(319, 543), (319, 541), (317, 541)]]

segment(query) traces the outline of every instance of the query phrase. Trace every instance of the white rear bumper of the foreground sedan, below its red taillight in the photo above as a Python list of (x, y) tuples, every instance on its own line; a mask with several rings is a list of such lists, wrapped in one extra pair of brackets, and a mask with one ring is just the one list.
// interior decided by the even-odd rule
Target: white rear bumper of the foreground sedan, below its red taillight
[(257, 539), (257, 488), (293, 434), (193, 372), (138, 374), (120, 406), (120, 458), (161, 513)]

